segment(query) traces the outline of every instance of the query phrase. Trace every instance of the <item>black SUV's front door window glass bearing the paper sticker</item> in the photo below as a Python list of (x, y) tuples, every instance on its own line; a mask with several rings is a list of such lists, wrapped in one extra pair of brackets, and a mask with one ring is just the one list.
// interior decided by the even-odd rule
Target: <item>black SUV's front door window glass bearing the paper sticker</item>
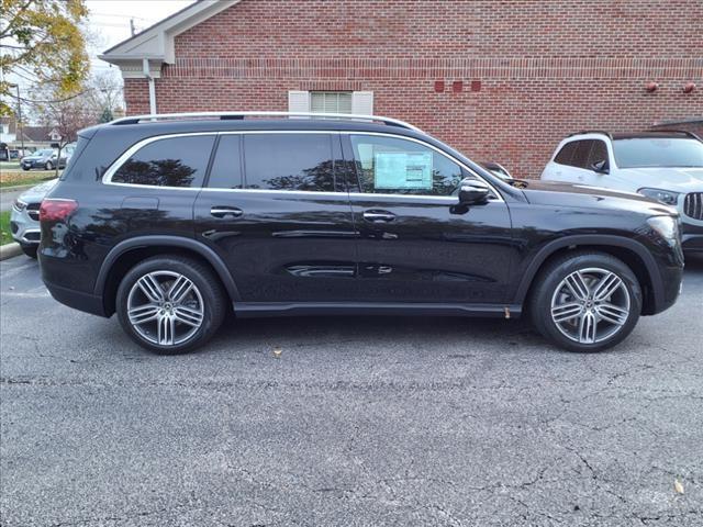
[(461, 167), (434, 149), (406, 139), (353, 135), (362, 192), (451, 195)]

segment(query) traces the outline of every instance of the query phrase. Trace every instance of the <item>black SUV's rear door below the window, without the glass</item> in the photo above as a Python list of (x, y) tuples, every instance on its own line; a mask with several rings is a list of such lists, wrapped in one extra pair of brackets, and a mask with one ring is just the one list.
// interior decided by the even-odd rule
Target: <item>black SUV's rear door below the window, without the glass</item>
[(338, 301), (354, 291), (346, 193), (203, 190), (196, 225), (225, 260), (244, 302)]

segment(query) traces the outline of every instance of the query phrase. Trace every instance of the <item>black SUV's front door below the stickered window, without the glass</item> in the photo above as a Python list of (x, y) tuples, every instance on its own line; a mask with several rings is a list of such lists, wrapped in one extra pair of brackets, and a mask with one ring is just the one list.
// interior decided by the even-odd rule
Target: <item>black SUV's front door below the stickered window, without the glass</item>
[[(505, 300), (515, 256), (505, 203), (457, 211), (453, 206), (457, 200), (451, 199), (373, 194), (350, 199), (359, 231), (358, 301)], [(369, 221), (367, 211), (382, 211), (393, 220)]]

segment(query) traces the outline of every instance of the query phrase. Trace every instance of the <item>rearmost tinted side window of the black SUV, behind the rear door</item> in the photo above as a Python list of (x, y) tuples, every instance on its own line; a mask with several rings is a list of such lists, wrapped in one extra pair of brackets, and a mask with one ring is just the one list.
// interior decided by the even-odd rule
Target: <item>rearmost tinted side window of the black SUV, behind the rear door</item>
[(112, 176), (115, 183), (202, 186), (214, 135), (157, 139), (140, 148)]

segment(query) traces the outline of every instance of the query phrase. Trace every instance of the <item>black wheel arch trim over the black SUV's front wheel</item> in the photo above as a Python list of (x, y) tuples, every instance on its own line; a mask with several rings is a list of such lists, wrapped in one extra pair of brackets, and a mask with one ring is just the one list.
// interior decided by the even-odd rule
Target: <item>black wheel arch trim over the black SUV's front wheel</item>
[(627, 265), (637, 277), (643, 290), (643, 315), (657, 312), (657, 306), (663, 301), (663, 284), (654, 257), (640, 243), (612, 235), (568, 236), (547, 244), (525, 270), (517, 287), (515, 303), (525, 303), (539, 271), (550, 260), (569, 251), (583, 249), (609, 254)]

